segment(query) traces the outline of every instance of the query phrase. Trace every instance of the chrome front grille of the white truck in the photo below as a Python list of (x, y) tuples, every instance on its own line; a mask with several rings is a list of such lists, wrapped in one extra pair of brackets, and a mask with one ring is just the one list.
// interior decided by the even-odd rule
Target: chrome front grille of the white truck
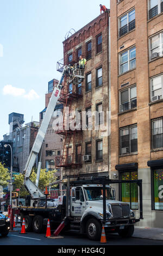
[(129, 204), (108, 204), (112, 218), (128, 218), (130, 217)]

